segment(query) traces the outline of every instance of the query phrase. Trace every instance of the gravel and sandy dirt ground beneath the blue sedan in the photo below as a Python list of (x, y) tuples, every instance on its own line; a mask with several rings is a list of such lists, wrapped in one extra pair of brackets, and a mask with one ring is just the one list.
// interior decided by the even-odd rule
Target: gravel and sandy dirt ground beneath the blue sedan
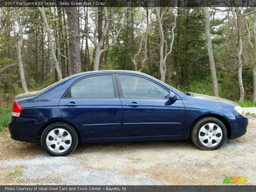
[(247, 133), (227, 140), (215, 151), (203, 151), (190, 140), (82, 144), (67, 157), (51, 157), (40, 144), (14, 141), (0, 133), (0, 185), (5, 178), (58, 178), (67, 185), (221, 185), (225, 177), (248, 177), (256, 185), (256, 118)]

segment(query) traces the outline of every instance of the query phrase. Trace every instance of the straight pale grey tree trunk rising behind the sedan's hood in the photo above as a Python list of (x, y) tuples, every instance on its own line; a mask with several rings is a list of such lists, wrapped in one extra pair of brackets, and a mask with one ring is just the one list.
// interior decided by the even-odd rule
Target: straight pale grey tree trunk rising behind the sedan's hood
[(217, 81), (214, 57), (212, 52), (212, 39), (210, 34), (210, 13), (208, 11), (206, 0), (203, 0), (203, 4), (204, 4), (203, 9), (204, 9), (204, 16), (205, 16), (205, 36), (207, 41), (207, 51), (208, 51), (210, 69), (212, 74), (213, 96), (219, 97), (218, 81)]

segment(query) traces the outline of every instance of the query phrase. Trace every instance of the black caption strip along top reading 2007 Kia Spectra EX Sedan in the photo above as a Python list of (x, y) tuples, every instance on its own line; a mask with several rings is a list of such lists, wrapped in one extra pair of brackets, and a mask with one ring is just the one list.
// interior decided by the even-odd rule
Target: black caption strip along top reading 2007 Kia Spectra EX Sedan
[[(179, 3), (178, 3), (179, 2)], [(0, 0), (0, 7), (202, 7), (202, 0)], [(207, 0), (209, 7), (256, 7), (255, 0)]]

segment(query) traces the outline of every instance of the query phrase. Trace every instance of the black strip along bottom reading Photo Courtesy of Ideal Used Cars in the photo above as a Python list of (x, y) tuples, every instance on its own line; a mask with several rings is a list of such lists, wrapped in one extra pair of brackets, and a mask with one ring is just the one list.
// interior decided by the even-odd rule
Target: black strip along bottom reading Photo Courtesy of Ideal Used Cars
[(246, 185), (222, 185), (222, 186), (132, 186), (132, 185), (98, 185), (98, 186), (50, 186), (50, 185), (16, 185), (16, 186), (0, 186), (0, 192), (157, 192), (157, 191), (173, 191), (173, 192), (251, 192), (256, 191), (256, 186), (246, 186)]

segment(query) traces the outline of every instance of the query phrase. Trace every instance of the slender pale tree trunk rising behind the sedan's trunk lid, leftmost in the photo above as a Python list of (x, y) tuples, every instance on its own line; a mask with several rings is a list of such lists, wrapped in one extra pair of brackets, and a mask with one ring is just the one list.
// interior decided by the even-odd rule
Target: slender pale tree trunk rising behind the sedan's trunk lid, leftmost
[(16, 18), (17, 18), (17, 22), (19, 25), (19, 33), (20, 33), (20, 42), (18, 44), (16, 43), (16, 49), (17, 49), (17, 54), (18, 54), (18, 64), (19, 64), (19, 69), (20, 69), (20, 81), (21, 81), (21, 86), (22, 86), (23, 91), (25, 93), (27, 93), (29, 91), (28, 91), (28, 87), (26, 84), (24, 68), (23, 68), (23, 63), (22, 63), (22, 56), (21, 56), (21, 48), (22, 48), (22, 44), (23, 44), (23, 34), (22, 34), (22, 26), (21, 26), (21, 22), (20, 22), (20, 17), (17, 12), (16, 12)]

